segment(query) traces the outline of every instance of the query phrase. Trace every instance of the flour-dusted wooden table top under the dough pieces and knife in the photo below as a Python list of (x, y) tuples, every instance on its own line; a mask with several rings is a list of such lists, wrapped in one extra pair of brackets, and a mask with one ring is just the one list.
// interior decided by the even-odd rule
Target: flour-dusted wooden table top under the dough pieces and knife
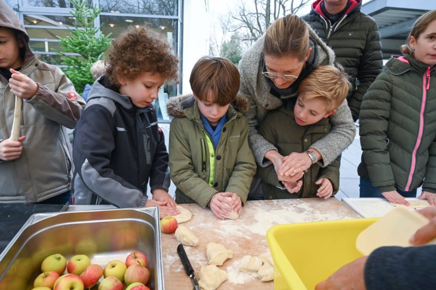
[[(200, 240), (199, 246), (184, 246), (197, 280), (201, 266), (208, 264), (208, 243), (221, 243), (228, 250), (233, 250), (233, 259), (226, 260), (222, 266), (218, 266), (228, 274), (228, 280), (221, 284), (220, 289), (273, 289), (272, 281), (261, 282), (257, 273), (244, 273), (238, 270), (239, 261), (243, 256), (259, 256), (269, 251), (266, 232), (271, 226), (360, 218), (356, 212), (335, 198), (249, 201), (237, 220), (220, 220), (209, 208), (203, 209), (198, 204), (181, 206), (189, 209), (193, 215), (192, 219), (183, 225), (189, 227)], [(165, 288), (191, 290), (191, 280), (177, 255), (176, 237), (174, 234), (162, 233), (161, 239)]]

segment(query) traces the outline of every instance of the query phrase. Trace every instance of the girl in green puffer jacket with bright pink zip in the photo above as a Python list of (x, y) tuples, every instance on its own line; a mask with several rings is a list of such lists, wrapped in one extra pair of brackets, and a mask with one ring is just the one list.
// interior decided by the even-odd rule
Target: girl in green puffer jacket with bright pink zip
[(436, 205), (436, 10), (412, 27), (404, 56), (392, 57), (365, 94), (360, 112), (361, 197)]

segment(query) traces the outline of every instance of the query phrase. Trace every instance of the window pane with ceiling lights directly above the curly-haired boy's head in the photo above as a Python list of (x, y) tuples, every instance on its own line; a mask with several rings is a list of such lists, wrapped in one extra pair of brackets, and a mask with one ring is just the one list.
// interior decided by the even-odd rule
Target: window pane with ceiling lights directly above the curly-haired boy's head
[(143, 17), (121, 17), (121, 16), (100, 16), (102, 32), (112, 33), (111, 37), (118, 37), (130, 25), (151, 24), (159, 34), (166, 38), (174, 47), (177, 53), (177, 20), (164, 18), (143, 18)]

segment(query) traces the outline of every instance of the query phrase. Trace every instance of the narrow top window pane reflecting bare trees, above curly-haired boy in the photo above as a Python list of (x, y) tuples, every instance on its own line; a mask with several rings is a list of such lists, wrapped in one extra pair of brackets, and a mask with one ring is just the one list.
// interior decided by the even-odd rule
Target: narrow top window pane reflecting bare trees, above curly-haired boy
[(178, 0), (100, 0), (103, 12), (177, 16)]

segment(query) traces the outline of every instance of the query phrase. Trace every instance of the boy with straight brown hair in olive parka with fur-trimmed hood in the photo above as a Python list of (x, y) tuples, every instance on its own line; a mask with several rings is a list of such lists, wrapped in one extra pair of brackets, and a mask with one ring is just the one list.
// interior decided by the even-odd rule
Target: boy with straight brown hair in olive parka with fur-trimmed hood
[(239, 72), (222, 57), (203, 57), (190, 78), (193, 96), (171, 98), (170, 173), (177, 203), (209, 206), (219, 219), (242, 211), (256, 165), (248, 145)]

